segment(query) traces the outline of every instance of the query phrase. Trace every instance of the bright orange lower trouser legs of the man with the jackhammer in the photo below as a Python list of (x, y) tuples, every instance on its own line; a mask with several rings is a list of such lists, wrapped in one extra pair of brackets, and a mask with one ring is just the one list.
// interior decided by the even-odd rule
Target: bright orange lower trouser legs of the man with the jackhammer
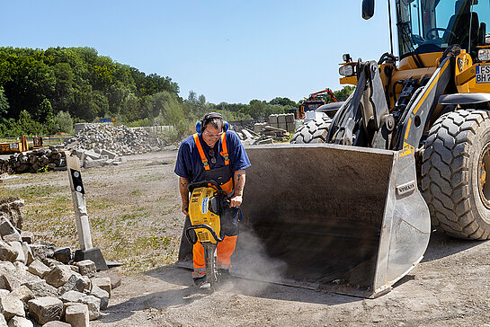
[[(219, 269), (227, 270), (231, 267), (230, 258), (233, 252), (235, 252), (237, 237), (237, 235), (225, 236), (223, 241), (218, 243), (216, 252), (217, 266)], [(199, 242), (195, 243), (192, 247), (192, 257), (194, 264), (192, 278), (203, 277), (206, 274), (206, 262), (204, 260), (204, 247)]]

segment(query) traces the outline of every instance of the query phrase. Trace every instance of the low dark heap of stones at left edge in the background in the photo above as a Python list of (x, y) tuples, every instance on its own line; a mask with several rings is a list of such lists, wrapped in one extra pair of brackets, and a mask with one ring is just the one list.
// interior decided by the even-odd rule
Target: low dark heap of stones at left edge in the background
[(66, 167), (63, 146), (49, 146), (40, 149), (10, 155), (8, 159), (0, 159), (0, 174), (39, 172)]

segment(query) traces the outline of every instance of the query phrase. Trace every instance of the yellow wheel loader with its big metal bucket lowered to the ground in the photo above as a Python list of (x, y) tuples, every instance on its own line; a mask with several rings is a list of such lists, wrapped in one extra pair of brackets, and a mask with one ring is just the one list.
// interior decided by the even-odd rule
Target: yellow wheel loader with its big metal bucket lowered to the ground
[(254, 278), (372, 298), (423, 259), (433, 228), (490, 237), (490, 1), (392, 8), (397, 57), (344, 56), (341, 83), (356, 89), (333, 119), (246, 147), (236, 275), (263, 256)]

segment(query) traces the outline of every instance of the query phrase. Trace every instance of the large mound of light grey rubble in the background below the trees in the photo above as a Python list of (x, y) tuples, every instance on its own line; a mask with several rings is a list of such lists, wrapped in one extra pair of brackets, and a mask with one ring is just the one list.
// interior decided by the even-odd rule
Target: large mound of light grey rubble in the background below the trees
[(159, 151), (164, 145), (159, 138), (149, 137), (143, 128), (86, 124), (75, 137), (65, 142), (65, 146), (73, 150), (94, 150), (97, 154), (106, 150), (116, 155), (141, 155)]

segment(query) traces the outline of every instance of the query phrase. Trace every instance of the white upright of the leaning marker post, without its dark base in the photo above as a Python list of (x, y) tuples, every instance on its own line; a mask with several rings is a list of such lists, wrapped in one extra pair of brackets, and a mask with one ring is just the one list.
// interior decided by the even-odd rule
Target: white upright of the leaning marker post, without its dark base
[(67, 155), (66, 158), (73, 208), (75, 209), (78, 243), (80, 243), (80, 249), (84, 251), (91, 250), (93, 248), (92, 235), (90, 234), (90, 225), (88, 223), (87, 208), (85, 205), (85, 190), (80, 173), (80, 161), (76, 156)]

